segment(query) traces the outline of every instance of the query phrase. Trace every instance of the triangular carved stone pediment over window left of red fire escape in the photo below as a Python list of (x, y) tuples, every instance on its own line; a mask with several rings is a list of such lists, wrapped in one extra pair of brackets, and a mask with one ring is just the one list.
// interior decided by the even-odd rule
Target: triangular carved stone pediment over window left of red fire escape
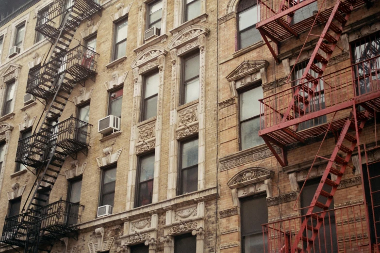
[(248, 78), (248, 75), (260, 71), (260, 69), (266, 69), (269, 63), (265, 60), (260, 61), (244, 61), (240, 63), (227, 77), (226, 79), (231, 81), (236, 81), (243, 78)]

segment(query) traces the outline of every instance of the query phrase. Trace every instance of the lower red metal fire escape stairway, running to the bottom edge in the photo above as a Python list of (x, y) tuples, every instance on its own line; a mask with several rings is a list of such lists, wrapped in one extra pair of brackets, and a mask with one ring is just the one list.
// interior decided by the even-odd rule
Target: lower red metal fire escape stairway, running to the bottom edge
[[(343, 174), (345, 173), (347, 163), (351, 158), (352, 152), (358, 142), (356, 137), (348, 134), (348, 130), (356, 130), (357, 127), (357, 136), (360, 136), (369, 116), (368, 111), (356, 111), (356, 116), (352, 119), (353, 113), (355, 113), (355, 110), (353, 110), (351, 112), (351, 116), (346, 119), (318, 188), (315, 191), (312, 203), (309, 207), (307, 207), (306, 218), (302, 221), (300, 229), (291, 247), (292, 253), (309, 253), (313, 251), (314, 241), (318, 239), (319, 229), (323, 226), (325, 221), (324, 218), (327, 214), (327, 212), (317, 213), (318, 210), (315, 210), (315, 208), (320, 208), (323, 211), (330, 208), (334, 194), (339, 186)], [(340, 155), (338, 152), (344, 155)], [(331, 174), (334, 176), (331, 176), (330, 178)], [(301, 194), (301, 192), (299, 194)], [(320, 197), (322, 197), (323, 200), (321, 200)], [(300, 243), (303, 244), (304, 247), (300, 248)]]

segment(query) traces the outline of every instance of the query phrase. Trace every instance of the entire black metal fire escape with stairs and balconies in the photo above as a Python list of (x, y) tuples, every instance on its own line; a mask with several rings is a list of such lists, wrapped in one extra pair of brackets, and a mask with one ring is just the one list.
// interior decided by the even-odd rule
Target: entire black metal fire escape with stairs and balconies
[(45, 110), (38, 130), (18, 142), (16, 155), (16, 162), (35, 168), (36, 179), (22, 213), (5, 219), (0, 240), (24, 253), (50, 253), (55, 240), (75, 235), (81, 218), (81, 205), (48, 202), (66, 157), (87, 154), (91, 125), (72, 116), (59, 119), (74, 86), (95, 79), (99, 54), (82, 45), (69, 47), (81, 21), (101, 8), (94, 0), (55, 0), (37, 15), (35, 30), (52, 45), (44, 64), (29, 72), (26, 93), (44, 100)]

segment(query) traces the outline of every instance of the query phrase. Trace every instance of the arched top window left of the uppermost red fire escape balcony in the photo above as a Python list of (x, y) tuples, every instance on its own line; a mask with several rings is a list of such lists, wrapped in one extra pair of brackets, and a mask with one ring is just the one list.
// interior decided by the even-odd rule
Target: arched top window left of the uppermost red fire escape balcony
[(238, 49), (248, 47), (261, 40), (256, 23), (260, 21), (260, 7), (257, 0), (241, 0), (237, 7)]

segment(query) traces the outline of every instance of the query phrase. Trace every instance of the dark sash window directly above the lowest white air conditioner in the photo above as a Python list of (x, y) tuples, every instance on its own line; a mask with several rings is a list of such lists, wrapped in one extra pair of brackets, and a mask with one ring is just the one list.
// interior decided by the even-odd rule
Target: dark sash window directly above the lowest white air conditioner
[(100, 206), (114, 206), (116, 167), (103, 170), (100, 191)]

